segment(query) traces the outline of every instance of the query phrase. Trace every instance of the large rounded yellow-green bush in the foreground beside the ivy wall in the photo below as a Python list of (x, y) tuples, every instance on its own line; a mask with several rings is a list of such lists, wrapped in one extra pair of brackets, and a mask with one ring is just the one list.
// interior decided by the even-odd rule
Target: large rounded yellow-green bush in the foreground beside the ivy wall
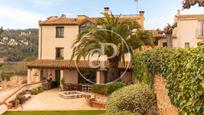
[(145, 114), (155, 103), (155, 95), (148, 85), (135, 84), (113, 92), (108, 98), (107, 112)]

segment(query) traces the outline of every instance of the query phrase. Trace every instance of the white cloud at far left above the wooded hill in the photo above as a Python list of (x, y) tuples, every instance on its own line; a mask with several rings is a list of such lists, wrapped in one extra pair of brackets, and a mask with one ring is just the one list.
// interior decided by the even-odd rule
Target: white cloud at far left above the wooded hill
[(16, 28), (16, 25), (37, 27), (41, 19), (45, 19), (45, 16), (40, 13), (0, 5), (0, 25), (14, 26), (11, 28)]

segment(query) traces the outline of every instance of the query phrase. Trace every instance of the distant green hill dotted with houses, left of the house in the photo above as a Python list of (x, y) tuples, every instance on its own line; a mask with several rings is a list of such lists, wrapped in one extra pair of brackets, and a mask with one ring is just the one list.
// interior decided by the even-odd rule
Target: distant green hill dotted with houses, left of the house
[(0, 35), (0, 58), (32, 60), (38, 53), (38, 29), (7, 29)]

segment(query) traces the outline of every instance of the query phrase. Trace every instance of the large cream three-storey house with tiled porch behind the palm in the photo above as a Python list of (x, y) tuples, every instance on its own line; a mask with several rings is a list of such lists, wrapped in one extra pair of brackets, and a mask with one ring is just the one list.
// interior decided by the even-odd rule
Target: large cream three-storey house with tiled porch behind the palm
[[(108, 13), (109, 8), (104, 8), (104, 13)], [(138, 15), (121, 15), (121, 19), (131, 19), (137, 21), (144, 28), (144, 11)], [(107, 71), (92, 69), (89, 60), (80, 60), (76, 63), (71, 60), (72, 44), (76, 40), (80, 31), (90, 25), (97, 25), (96, 19), (86, 15), (78, 15), (76, 18), (51, 16), (45, 21), (39, 21), (39, 50), (38, 59), (28, 64), (28, 84), (40, 82), (52, 78), (58, 86), (62, 79), (65, 83), (88, 83), (84, 80), (78, 70), (91, 81), (96, 83), (106, 83)], [(92, 61), (92, 63), (100, 63)], [(108, 63), (105, 62), (107, 67)], [(121, 71), (124, 74), (122, 81), (129, 82), (132, 79), (131, 66), (127, 63), (120, 63)]]

